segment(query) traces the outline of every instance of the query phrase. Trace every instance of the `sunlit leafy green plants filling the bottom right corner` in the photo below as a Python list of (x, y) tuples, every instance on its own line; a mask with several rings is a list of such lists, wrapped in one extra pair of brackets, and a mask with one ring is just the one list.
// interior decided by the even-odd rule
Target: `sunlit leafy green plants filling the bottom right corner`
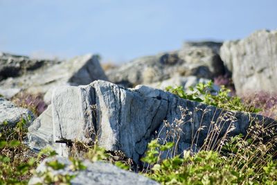
[(237, 151), (235, 154), (223, 155), (212, 150), (194, 154), (184, 151), (182, 155), (161, 160), (160, 152), (174, 144), (161, 145), (154, 140), (149, 143), (148, 152), (143, 158), (148, 164), (144, 175), (161, 184), (276, 184), (277, 162), (272, 155), (265, 155), (260, 160), (257, 160), (256, 155), (251, 158), (249, 154), (259, 153), (261, 148), (252, 150), (244, 146), (243, 151), (243, 144), (244, 140), (235, 136), (228, 144)]

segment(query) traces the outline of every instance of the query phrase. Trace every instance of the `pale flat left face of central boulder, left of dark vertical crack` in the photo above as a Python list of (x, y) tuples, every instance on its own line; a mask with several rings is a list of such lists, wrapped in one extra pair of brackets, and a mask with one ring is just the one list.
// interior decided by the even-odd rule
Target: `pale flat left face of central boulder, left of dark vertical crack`
[(91, 86), (60, 87), (53, 91), (54, 141), (89, 142), (93, 127), (94, 92)]

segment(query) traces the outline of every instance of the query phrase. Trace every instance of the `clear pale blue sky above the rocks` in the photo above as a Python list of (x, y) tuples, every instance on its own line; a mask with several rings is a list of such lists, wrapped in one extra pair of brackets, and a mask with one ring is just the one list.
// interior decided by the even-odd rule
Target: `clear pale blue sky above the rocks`
[(277, 0), (0, 0), (0, 51), (104, 62), (277, 28)]

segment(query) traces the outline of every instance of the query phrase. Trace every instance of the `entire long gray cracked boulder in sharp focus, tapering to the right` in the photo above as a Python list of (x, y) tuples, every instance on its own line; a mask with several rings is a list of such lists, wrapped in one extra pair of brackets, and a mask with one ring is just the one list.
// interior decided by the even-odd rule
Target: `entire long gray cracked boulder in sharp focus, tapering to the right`
[(245, 134), (249, 124), (256, 121), (274, 122), (257, 114), (184, 100), (143, 85), (125, 89), (102, 80), (87, 86), (59, 87), (53, 92), (51, 105), (54, 143), (90, 142), (97, 137), (106, 150), (121, 150), (135, 162), (144, 155), (150, 140), (157, 137), (177, 141), (176, 152), (181, 154), (192, 143), (202, 146), (213, 128), (220, 128), (215, 133), (218, 139), (226, 132)]

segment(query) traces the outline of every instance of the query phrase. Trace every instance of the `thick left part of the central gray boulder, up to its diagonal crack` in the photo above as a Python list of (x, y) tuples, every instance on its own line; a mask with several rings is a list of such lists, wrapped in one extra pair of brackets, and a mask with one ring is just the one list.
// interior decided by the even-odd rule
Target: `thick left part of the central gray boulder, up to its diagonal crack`
[(135, 161), (145, 152), (168, 109), (166, 100), (101, 80), (89, 86), (55, 89), (52, 106), (54, 141), (89, 142), (98, 136), (100, 146), (122, 150)]

